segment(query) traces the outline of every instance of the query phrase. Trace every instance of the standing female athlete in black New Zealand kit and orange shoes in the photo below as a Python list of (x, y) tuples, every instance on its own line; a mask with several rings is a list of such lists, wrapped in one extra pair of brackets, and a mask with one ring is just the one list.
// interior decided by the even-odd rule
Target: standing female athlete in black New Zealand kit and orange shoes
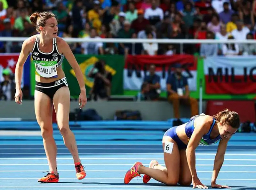
[(22, 44), (15, 70), (15, 102), (18, 104), (22, 102), (20, 88), (22, 69), (29, 53), (31, 53), (31, 61), (36, 67), (36, 120), (41, 128), (44, 150), (50, 169), (50, 172), (38, 182), (59, 181), (56, 162), (57, 146), (53, 139), (52, 106), (56, 111), (57, 124), (63, 141), (73, 156), (76, 177), (77, 179), (84, 179), (86, 173), (78, 156), (75, 136), (69, 129), (70, 93), (65, 74), (61, 68), (64, 56), (76, 73), (81, 90), (79, 95), (80, 108), (83, 108), (87, 101), (83, 73), (67, 42), (57, 36), (58, 22), (55, 15), (51, 12), (36, 12), (30, 16), (30, 20), (39, 34), (29, 37)]

